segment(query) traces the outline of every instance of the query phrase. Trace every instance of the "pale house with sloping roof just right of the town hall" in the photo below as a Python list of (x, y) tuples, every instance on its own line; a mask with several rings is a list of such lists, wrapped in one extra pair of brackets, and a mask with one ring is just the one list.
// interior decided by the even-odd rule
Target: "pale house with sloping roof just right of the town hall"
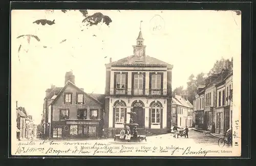
[(172, 126), (192, 127), (193, 105), (182, 96), (175, 95), (172, 99)]

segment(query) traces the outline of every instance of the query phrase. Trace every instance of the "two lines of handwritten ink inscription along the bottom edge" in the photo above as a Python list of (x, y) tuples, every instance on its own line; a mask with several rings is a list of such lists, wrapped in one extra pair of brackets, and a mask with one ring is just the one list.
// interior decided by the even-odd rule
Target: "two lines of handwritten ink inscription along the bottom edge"
[(117, 145), (102, 142), (75, 141), (29, 141), (18, 143), (14, 155), (153, 155), (166, 156), (206, 156), (208, 153), (231, 153), (211, 151), (202, 148), (180, 146)]

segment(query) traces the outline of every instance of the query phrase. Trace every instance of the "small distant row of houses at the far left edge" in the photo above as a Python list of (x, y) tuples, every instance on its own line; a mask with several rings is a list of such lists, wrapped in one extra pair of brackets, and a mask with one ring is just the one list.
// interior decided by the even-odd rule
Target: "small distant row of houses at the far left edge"
[(18, 107), (16, 101), (16, 139), (36, 139), (37, 125), (34, 124), (31, 115), (28, 115), (24, 107)]

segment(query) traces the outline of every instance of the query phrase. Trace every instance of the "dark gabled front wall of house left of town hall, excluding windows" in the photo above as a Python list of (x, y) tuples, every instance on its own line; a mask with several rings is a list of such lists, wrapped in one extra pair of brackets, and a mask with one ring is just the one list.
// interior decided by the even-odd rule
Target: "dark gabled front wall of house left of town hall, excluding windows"
[[(72, 102), (64, 103), (65, 101), (65, 93), (72, 93)], [(81, 93), (78, 89), (73, 87), (72, 85), (67, 85), (66, 89), (62, 92), (59, 98), (56, 101), (49, 105), (49, 116), (51, 117), (51, 131), (50, 135), (53, 138), (53, 130), (61, 129), (61, 138), (66, 139), (67, 137), (71, 137), (71, 127), (77, 126), (77, 134), (73, 135), (74, 137), (86, 137), (86, 136), (100, 136), (102, 129), (101, 118), (103, 118), (103, 108), (102, 105), (87, 96), (83, 93), (83, 101), (84, 104), (77, 103), (77, 93)], [(69, 119), (68, 120), (60, 120), (60, 110), (61, 109), (69, 109)], [(87, 109), (86, 119), (78, 119), (77, 110), (78, 109)], [(91, 110), (97, 109), (97, 119), (91, 119)], [(68, 129), (65, 127), (68, 126)], [(79, 130), (79, 127), (82, 127), (82, 130)], [(93, 129), (92, 129), (93, 128)], [(79, 133), (82, 131), (83, 134)], [(56, 134), (56, 131), (55, 131)], [(58, 138), (58, 136), (56, 136)]]

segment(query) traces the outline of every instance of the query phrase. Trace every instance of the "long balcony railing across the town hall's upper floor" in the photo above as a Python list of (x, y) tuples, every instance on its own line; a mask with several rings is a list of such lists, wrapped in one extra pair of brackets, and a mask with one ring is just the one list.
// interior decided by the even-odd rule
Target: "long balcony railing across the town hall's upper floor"
[(167, 96), (167, 89), (110, 89), (110, 95)]

